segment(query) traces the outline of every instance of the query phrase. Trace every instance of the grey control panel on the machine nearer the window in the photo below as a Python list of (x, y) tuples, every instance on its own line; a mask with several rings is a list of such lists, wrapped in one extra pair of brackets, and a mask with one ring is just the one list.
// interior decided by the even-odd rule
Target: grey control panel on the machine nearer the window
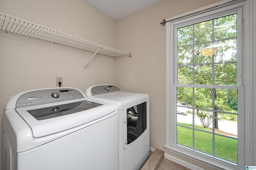
[(102, 94), (122, 91), (116, 85), (97, 85), (97, 86), (89, 87), (88, 89), (86, 91), (87, 96), (95, 96), (95, 95), (102, 95)]

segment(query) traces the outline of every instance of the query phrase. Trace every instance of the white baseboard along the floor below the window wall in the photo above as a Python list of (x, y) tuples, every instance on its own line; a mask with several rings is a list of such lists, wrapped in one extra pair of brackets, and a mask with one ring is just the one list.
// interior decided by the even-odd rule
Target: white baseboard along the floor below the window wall
[[(151, 152), (154, 152), (155, 148), (150, 147), (149, 150)], [(191, 170), (204, 170), (204, 169), (202, 169), (202, 168), (200, 168), (200, 167), (198, 167), (198, 166), (196, 166), (194, 164), (190, 164), (189, 162), (186, 162), (186, 161), (184, 161), (184, 160), (182, 160), (180, 158), (177, 158), (175, 156), (172, 156), (170, 154), (164, 153), (164, 158), (166, 158), (166, 159), (168, 159), (168, 160), (170, 160), (172, 162), (175, 162), (177, 164), (180, 164), (182, 166), (185, 166), (186, 168), (189, 168)]]

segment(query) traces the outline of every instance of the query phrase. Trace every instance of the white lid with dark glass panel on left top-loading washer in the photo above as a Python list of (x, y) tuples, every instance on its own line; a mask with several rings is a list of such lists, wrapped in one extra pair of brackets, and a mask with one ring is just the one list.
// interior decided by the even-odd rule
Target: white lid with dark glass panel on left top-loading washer
[[(86, 123), (97, 123), (118, 114), (115, 105), (80, 100), (59, 105), (43, 105), (16, 109), (18, 114), (32, 129), (33, 136), (39, 138)], [(100, 119), (102, 118), (102, 119)]]

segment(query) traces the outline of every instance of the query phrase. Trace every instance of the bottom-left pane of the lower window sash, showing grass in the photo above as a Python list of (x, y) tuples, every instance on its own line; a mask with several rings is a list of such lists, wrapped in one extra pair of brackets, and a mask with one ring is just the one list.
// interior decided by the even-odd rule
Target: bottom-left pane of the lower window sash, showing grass
[(177, 144), (193, 148), (193, 130), (177, 126)]

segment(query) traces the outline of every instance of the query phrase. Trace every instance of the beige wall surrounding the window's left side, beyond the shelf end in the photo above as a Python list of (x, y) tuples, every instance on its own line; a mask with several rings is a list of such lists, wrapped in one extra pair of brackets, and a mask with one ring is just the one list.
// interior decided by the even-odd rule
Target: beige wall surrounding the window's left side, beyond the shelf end
[[(117, 48), (132, 57), (117, 59), (116, 82), (123, 90), (150, 95), (150, 147), (182, 158), (165, 148), (165, 27), (163, 19), (213, 4), (220, 0), (163, 0), (117, 21)], [(182, 158), (196, 164), (191, 160)], [(202, 164), (196, 164), (207, 168)]]

